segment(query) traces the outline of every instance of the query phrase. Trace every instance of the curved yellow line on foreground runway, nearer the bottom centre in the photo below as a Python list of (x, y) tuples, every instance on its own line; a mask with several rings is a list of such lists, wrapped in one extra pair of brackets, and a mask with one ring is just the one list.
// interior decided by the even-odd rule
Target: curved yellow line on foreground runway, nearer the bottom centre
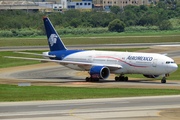
[(92, 106), (79, 107), (79, 108), (75, 108), (75, 109), (70, 110), (69, 114), (71, 116), (74, 116), (74, 117), (77, 117), (77, 118), (81, 118), (81, 119), (85, 119), (85, 120), (94, 120), (94, 119), (90, 119), (90, 118), (85, 118), (85, 117), (74, 115), (74, 114), (72, 114), (72, 111), (79, 110), (79, 109), (84, 109), (84, 108), (97, 107), (97, 106), (117, 105), (117, 104), (122, 104), (122, 103), (129, 103), (129, 102), (118, 102), (118, 103), (113, 103), (113, 104), (106, 104), (105, 103), (105, 104), (102, 104), (102, 105), (92, 105)]

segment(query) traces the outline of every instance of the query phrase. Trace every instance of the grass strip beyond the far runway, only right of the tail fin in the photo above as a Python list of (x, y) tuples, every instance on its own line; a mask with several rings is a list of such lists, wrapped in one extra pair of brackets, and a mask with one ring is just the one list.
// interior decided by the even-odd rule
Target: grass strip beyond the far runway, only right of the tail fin
[(180, 42), (180, 36), (122, 38), (63, 38), (65, 45)]

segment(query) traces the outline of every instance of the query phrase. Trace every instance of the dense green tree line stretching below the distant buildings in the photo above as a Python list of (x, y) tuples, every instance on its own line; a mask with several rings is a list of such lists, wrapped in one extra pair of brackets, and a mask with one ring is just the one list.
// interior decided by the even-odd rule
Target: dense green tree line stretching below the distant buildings
[[(169, 19), (179, 18), (180, 2), (177, 0), (160, 0), (156, 5), (150, 6), (127, 5), (124, 9), (112, 6), (110, 12), (92, 10), (91, 12), (80, 12), (79, 10), (68, 10), (64, 13), (54, 12), (51, 14), (39, 12), (25, 12), (21, 10), (1, 10), (0, 29), (23, 29), (33, 28), (44, 30), (42, 17), (48, 16), (56, 28), (85, 28), (85, 27), (108, 27), (113, 20), (122, 21), (128, 26), (161, 26), (169, 25)], [(162, 28), (163, 30), (163, 28)]]

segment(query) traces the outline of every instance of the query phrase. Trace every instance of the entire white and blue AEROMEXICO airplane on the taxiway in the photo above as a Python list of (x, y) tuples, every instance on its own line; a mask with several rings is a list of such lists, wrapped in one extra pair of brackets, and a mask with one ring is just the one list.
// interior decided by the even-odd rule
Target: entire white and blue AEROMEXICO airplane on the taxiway
[(166, 83), (166, 77), (178, 68), (172, 58), (158, 53), (68, 50), (49, 18), (43, 17), (43, 21), (50, 52), (43, 52), (43, 54), (18, 53), (43, 56), (46, 59), (6, 57), (41, 62), (50, 61), (74, 70), (88, 71), (90, 77), (86, 77), (87, 82), (107, 79), (110, 74), (119, 74), (115, 77), (116, 81), (128, 81), (125, 74), (142, 74), (147, 78), (162, 76), (161, 83)]

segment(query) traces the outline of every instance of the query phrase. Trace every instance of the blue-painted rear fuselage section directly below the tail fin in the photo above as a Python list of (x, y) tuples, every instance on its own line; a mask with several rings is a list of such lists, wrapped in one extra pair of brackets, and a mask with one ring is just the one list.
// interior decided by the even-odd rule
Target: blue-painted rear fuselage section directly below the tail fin
[(63, 60), (68, 55), (77, 53), (77, 52), (84, 52), (85, 50), (59, 50), (59, 51), (51, 51), (49, 55), (55, 55), (55, 60)]

